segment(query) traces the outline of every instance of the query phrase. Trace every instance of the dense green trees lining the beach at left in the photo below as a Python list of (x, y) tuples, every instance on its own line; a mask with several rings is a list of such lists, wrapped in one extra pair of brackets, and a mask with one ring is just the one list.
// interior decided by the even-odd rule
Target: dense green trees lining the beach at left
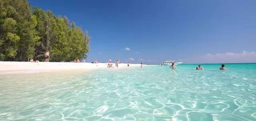
[(88, 32), (66, 16), (30, 8), (26, 0), (0, 0), (0, 61), (69, 62), (86, 58), (90, 47)]

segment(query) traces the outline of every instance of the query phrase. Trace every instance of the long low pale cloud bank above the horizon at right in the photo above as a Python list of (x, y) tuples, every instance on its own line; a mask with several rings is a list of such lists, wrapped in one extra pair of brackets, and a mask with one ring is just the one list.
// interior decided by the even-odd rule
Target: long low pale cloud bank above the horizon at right
[(256, 62), (256, 52), (243, 51), (242, 53), (216, 53), (198, 56), (191, 59), (179, 59), (186, 63), (241, 63)]

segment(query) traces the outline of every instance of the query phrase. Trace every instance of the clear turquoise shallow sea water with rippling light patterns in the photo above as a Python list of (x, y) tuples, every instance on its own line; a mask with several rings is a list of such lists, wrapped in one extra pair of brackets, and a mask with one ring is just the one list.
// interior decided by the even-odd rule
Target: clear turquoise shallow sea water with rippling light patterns
[(256, 121), (256, 64), (0, 74), (0, 121)]

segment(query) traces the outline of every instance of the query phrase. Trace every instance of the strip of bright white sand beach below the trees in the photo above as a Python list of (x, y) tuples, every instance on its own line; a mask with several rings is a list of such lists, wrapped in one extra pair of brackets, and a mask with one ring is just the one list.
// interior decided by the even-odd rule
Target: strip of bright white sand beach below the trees
[[(28, 70), (28, 71), (52, 71), (52, 70), (72, 70), (72, 69), (97, 69), (107, 68), (108, 63), (87, 63), (87, 62), (6, 62), (0, 61), (0, 71), (8, 72), (14, 70)], [(115, 63), (112, 63), (115, 67)], [(140, 64), (130, 64), (130, 66), (140, 66)], [(143, 65), (144, 66), (144, 65)], [(118, 68), (128, 68), (127, 64), (118, 64)], [(113, 68), (113, 69), (116, 69)]]

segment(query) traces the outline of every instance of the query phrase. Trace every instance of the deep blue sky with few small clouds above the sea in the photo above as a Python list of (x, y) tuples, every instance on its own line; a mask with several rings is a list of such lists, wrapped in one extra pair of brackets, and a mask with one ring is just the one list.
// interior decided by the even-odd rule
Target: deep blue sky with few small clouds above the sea
[(28, 0), (88, 31), (86, 62), (256, 62), (256, 0)]

